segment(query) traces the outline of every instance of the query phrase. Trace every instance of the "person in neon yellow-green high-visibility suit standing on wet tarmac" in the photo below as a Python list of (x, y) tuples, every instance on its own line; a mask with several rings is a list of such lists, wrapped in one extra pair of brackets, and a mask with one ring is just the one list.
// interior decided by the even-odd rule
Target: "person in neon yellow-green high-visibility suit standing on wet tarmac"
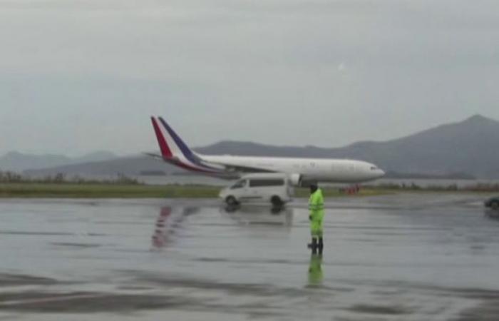
[(310, 198), (309, 198), (309, 220), (310, 232), (312, 234), (312, 243), (309, 248), (312, 249), (312, 254), (322, 254), (322, 219), (324, 218), (324, 198), (322, 197), (322, 190), (317, 186), (317, 183), (310, 185)]

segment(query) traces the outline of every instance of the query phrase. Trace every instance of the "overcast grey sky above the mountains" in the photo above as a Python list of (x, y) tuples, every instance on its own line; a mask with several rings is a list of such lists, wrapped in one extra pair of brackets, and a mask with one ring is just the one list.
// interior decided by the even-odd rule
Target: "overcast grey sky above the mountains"
[(497, 0), (0, 0), (0, 154), (343, 146), (499, 119)]

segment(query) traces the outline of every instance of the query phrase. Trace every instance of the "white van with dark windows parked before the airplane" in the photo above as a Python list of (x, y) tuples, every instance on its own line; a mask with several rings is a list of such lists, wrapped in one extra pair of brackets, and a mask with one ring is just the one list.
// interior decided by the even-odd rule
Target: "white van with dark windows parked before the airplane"
[(272, 203), (279, 206), (291, 200), (293, 187), (286, 174), (259, 173), (242, 176), (233, 185), (220, 191), (228, 205), (243, 202)]

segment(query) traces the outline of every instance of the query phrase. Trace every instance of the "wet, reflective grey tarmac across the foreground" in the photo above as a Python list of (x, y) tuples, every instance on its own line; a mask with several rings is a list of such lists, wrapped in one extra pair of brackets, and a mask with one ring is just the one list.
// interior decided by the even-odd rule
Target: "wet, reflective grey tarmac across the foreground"
[(0, 320), (499, 320), (499, 220), (483, 196), (326, 204), (1, 200)]

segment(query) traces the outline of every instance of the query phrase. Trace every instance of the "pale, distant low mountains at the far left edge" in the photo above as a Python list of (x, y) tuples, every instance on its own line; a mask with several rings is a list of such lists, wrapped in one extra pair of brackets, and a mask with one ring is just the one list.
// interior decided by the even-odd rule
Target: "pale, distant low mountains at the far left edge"
[(118, 156), (108, 151), (96, 151), (76, 158), (55, 154), (32, 155), (11, 151), (0, 157), (0, 170), (22, 172), (26, 169), (52, 168), (68, 164), (108, 161), (113, 158), (118, 158)]

